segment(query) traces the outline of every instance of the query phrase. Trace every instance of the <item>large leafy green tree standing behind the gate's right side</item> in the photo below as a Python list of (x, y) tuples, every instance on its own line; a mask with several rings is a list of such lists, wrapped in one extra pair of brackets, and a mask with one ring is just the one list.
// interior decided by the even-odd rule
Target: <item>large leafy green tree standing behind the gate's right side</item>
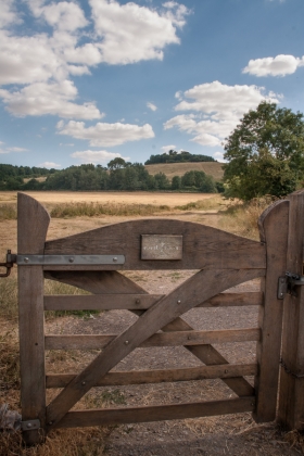
[(244, 114), (226, 139), (225, 151), (227, 197), (283, 197), (304, 178), (303, 114), (263, 101)]

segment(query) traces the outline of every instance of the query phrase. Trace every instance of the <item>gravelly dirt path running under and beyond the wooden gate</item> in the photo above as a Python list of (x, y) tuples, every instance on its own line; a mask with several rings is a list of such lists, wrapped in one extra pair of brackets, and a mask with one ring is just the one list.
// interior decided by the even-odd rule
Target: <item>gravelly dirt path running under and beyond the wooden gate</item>
[[(193, 271), (129, 273), (150, 293), (167, 293)], [(256, 291), (258, 280), (231, 289)], [(49, 333), (118, 333), (136, 320), (127, 311), (112, 311), (87, 319), (65, 317), (47, 325)], [(245, 328), (257, 326), (257, 308), (198, 308), (183, 315), (194, 329)], [(229, 362), (250, 363), (255, 359), (255, 343), (215, 345)], [(56, 369), (80, 370), (97, 352), (72, 354), (56, 358)], [(49, 355), (49, 369), (52, 367)], [(200, 362), (183, 347), (138, 349), (122, 360), (114, 370), (162, 369), (200, 366)], [(248, 379), (253, 381), (252, 378)], [(129, 387), (96, 388), (85, 397), (87, 408), (161, 405), (236, 397), (220, 380), (179, 383), (160, 383)], [(76, 407), (75, 407), (76, 408)], [(211, 418), (148, 422), (113, 427), (103, 449), (109, 456), (168, 456), (168, 455), (299, 455), (270, 425), (255, 425), (251, 414)]]

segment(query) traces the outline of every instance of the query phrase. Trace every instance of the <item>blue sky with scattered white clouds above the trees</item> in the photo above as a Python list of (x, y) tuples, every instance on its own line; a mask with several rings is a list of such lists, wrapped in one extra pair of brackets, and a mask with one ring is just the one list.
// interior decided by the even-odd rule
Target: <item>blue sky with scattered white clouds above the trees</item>
[(304, 112), (303, 0), (0, 0), (0, 163), (223, 161), (263, 100)]

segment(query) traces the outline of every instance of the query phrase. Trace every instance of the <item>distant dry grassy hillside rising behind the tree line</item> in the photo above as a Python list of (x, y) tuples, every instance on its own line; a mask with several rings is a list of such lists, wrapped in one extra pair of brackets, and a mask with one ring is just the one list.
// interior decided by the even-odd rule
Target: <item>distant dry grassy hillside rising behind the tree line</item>
[(221, 180), (224, 176), (223, 163), (218, 162), (160, 163), (156, 165), (144, 165), (144, 167), (153, 176), (157, 173), (164, 173), (169, 180), (172, 180), (173, 176), (183, 176), (189, 170), (202, 170), (215, 180)]

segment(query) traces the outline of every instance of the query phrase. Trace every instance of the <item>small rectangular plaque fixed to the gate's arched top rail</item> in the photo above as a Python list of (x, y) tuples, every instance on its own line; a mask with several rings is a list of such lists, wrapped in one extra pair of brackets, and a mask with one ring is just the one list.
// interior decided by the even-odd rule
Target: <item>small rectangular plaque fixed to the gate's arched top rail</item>
[(182, 236), (141, 235), (141, 259), (181, 259)]

